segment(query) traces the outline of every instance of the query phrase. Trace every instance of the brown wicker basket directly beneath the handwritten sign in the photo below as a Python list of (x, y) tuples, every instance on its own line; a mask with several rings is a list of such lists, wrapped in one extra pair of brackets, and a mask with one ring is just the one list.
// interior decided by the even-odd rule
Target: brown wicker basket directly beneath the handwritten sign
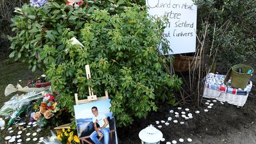
[(200, 57), (174, 55), (174, 71), (185, 72), (199, 67)]

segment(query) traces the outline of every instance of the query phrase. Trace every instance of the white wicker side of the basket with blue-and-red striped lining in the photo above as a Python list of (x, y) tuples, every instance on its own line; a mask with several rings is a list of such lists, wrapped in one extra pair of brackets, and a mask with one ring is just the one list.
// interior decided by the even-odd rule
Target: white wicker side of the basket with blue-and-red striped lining
[(222, 102), (227, 101), (229, 104), (238, 105), (242, 107), (247, 101), (248, 94), (247, 95), (229, 94), (223, 91), (217, 91), (217, 90), (204, 87), (203, 97), (215, 98), (216, 100), (222, 101)]

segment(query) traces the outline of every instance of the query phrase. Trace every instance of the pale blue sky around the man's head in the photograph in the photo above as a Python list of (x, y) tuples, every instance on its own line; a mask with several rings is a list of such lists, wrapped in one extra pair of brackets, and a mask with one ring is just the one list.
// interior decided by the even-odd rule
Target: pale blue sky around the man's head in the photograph
[(86, 104), (74, 105), (75, 109), (75, 119), (88, 119), (92, 118), (93, 114), (91, 112), (92, 107), (97, 107), (99, 113), (104, 113), (106, 116), (112, 116), (109, 108), (111, 107), (110, 99), (93, 101)]

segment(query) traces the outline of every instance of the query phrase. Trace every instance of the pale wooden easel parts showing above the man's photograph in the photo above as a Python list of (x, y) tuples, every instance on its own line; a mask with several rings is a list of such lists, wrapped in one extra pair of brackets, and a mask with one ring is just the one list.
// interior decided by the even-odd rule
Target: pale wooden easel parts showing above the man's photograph
[[(87, 79), (91, 79), (91, 71), (89, 69), (89, 65), (85, 66), (85, 72), (87, 74)], [(75, 101), (76, 104), (85, 104), (89, 103), (91, 101), (99, 101), (99, 100), (107, 100), (108, 99), (108, 92), (105, 91), (105, 96), (97, 98), (97, 95), (94, 95), (93, 89), (91, 87), (88, 87), (89, 90), (89, 96), (87, 96), (87, 99), (84, 100), (78, 100), (78, 94), (75, 94)]]

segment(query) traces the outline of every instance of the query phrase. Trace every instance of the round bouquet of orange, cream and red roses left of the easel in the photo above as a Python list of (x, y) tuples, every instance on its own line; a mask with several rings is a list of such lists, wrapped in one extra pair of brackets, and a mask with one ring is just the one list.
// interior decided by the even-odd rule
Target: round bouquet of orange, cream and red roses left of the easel
[[(57, 95), (57, 92), (54, 93)], [(37, 111), (33, 116), (34, 120), (38, 120), (41, 116), (44, 116), (45, 119), (50, 119), (59, 110), (59, 104), (53, 94), (47, 92), (44, 94), (43, 100), (38, 100), (33, 108)]]

